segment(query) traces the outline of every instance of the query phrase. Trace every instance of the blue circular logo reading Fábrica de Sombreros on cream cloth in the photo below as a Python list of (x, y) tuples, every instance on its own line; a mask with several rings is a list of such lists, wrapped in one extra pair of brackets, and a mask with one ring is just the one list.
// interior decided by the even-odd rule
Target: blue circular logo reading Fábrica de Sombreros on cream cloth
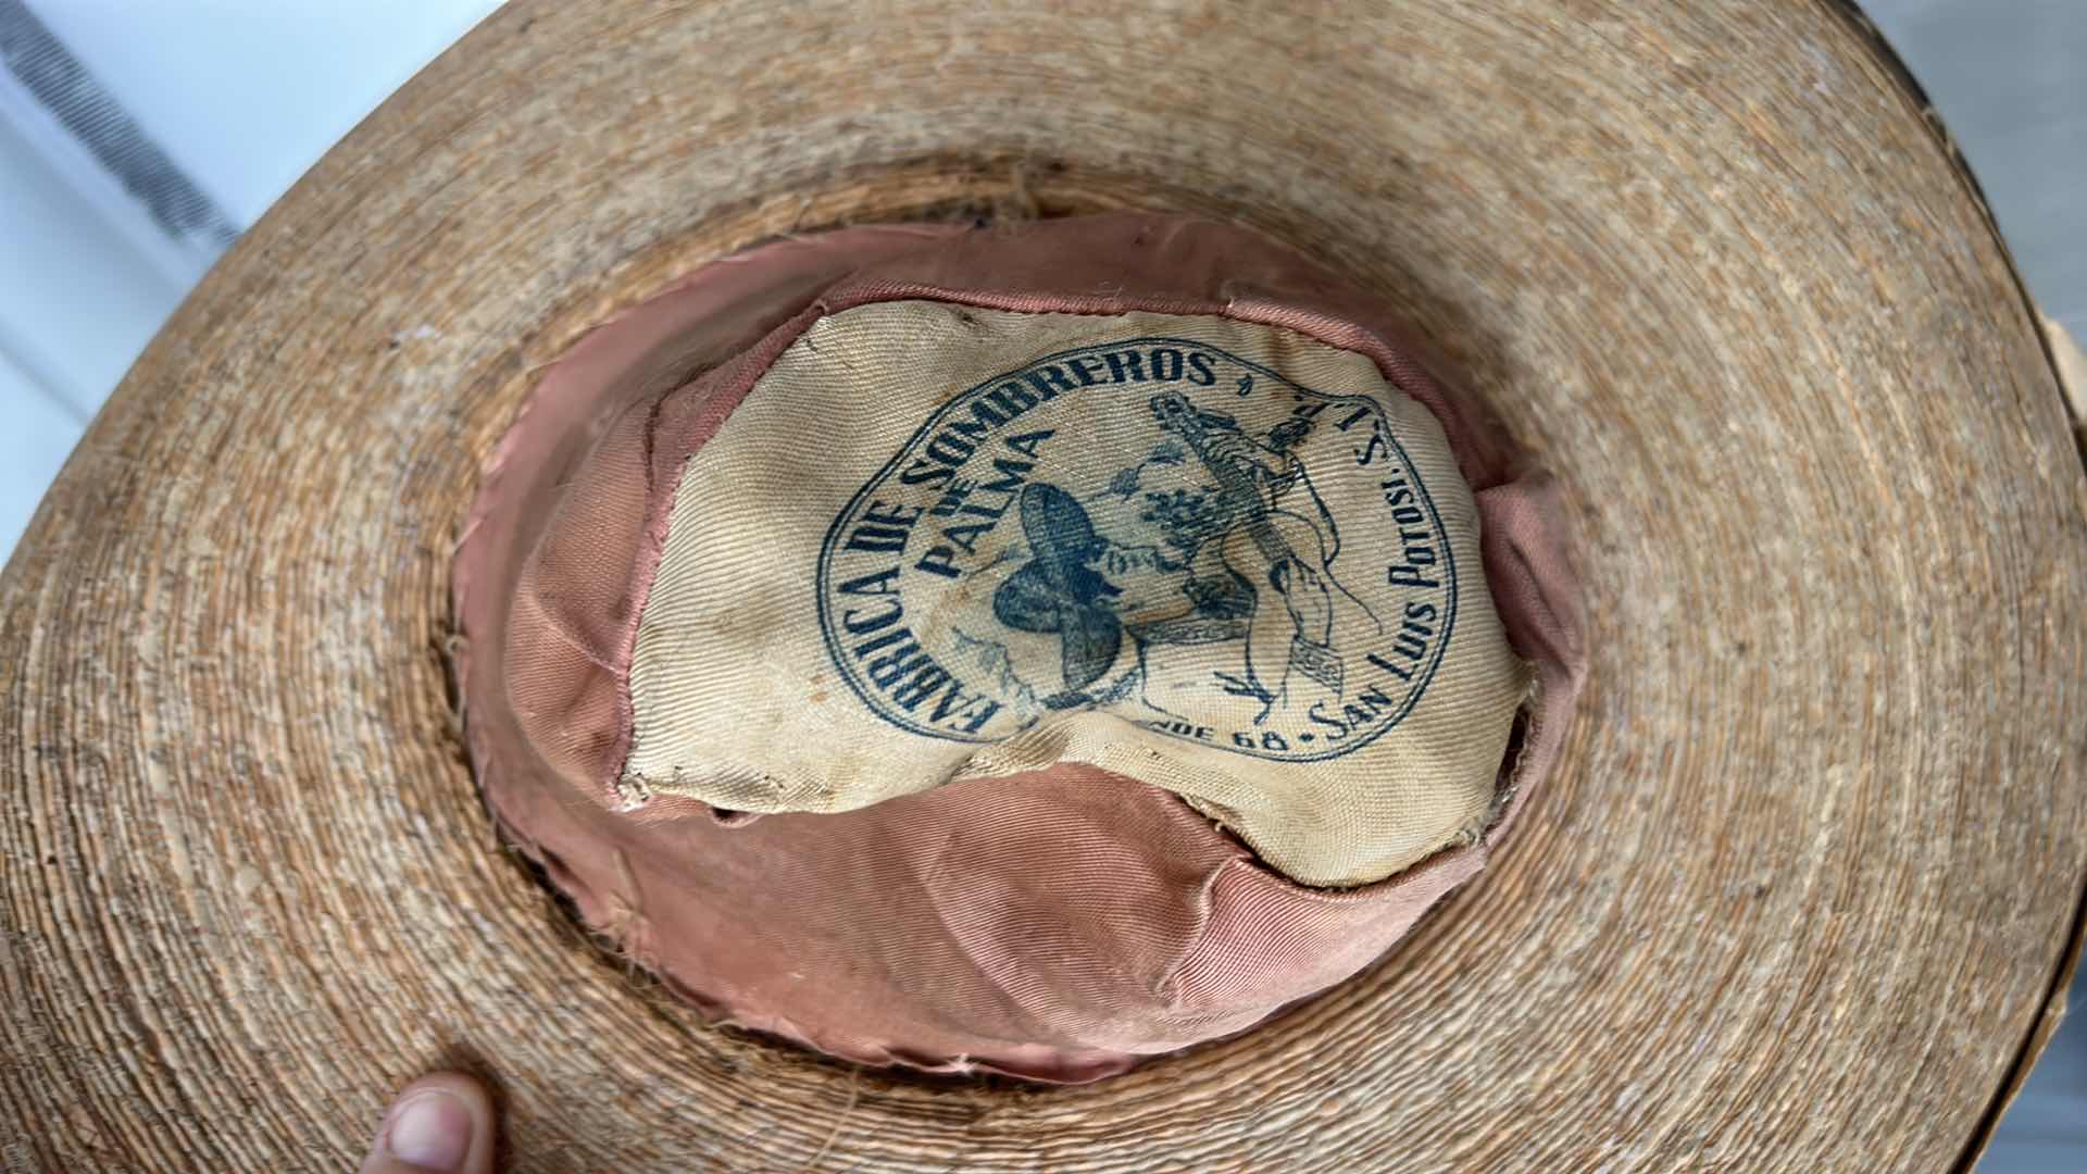
[(1421, 700), (1457, 566), (1377, 399), (1131, 338), (929, 416), (829, 529), (818, 610), (856, 696), (927, 737), (1102, 710), (1313, 760)]

